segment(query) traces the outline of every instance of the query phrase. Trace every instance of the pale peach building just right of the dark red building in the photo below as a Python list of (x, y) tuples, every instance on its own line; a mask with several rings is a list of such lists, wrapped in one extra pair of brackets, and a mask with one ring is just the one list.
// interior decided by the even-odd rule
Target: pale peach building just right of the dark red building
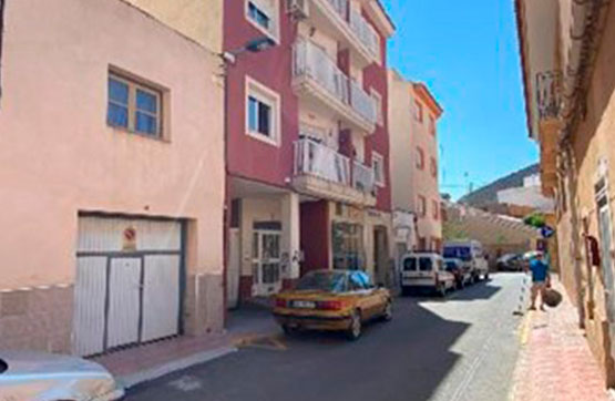
[(442, 109), (422, 83), (408, 81), (394, 70), (389, 70), (388, 82), (397, 253), (440, 250), (437, 123)]

